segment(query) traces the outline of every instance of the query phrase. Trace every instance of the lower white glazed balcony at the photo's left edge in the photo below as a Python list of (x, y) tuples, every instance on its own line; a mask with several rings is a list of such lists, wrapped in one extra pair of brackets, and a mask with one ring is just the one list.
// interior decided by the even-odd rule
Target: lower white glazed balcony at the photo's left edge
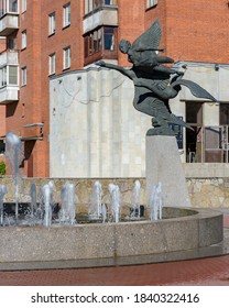
[(7, 51), (0, 54), (0, 105), (8, 105), (18, 100), (18, 52)]

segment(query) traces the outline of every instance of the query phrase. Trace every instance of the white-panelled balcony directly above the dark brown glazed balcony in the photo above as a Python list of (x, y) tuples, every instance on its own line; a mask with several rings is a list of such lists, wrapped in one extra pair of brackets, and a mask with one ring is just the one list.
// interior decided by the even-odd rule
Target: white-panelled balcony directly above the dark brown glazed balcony
[(94, 6), (86, 8), (84, 18), (84, 34), (102, 25), (118, 25), (118, 1), (94, 0)]

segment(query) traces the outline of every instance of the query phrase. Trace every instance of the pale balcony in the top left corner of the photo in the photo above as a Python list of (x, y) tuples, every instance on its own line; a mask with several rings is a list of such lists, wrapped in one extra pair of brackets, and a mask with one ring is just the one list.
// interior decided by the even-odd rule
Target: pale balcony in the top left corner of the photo
[(19, 29), (19, 0), (0, 0), (0, 36)]

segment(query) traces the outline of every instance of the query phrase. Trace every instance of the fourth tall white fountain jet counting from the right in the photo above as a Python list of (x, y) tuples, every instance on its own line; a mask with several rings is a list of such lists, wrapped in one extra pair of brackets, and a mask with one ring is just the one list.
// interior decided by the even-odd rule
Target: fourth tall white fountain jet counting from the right
[(89, 216), (91, 218), (100, 218), (102, 215), (101, 210), (101, 184), (97, 180), (94, 184), (92, 193), (90, 195), (90, 206), (89, 206)]

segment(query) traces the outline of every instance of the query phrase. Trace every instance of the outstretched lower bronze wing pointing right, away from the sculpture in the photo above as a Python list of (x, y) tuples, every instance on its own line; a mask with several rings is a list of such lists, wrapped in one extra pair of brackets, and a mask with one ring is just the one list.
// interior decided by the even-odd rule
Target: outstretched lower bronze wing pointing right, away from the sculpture
[(185, 86), (189, 88), (190, 92), (198, 98), (206, 98), (211, 101), (217, 101), (215, 97), (212, 97), (208, 91), (206, 91), (203, 87), (197, 85), (194, 81), (185, 80), (185, 79), (177, 79), (176, 81), (172, 82), (171, 86), (174, 88), (176, 86)]

